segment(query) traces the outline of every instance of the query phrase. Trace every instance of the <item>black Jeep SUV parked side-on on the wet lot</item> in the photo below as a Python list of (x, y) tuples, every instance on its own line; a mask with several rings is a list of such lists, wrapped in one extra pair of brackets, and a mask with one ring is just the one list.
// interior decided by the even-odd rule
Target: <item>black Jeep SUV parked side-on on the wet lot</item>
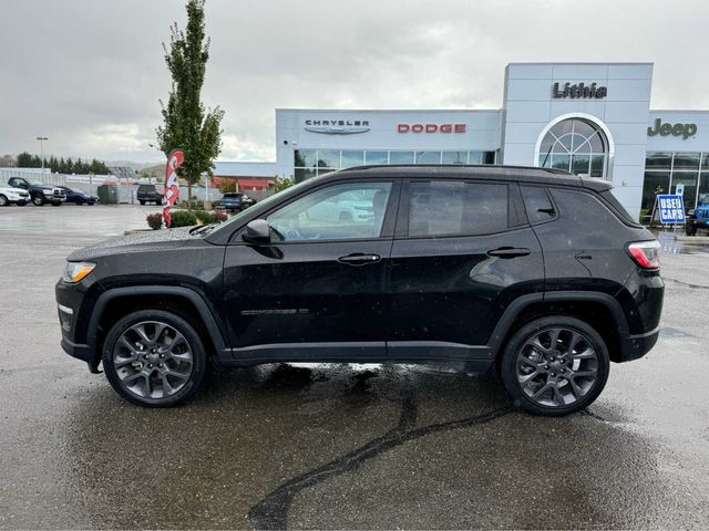
[[(340, 219), (341, 197), (358, 216)], [(349, 207), (348, 207), (349, 208)], [(219, 226), (74, 252), (63, 348), (129, 400), (173, 406), (222, 364), (497, 367), (514, 404), (590, 404), (658, 336), (659, 246), (605, 181), (504, 166), (314, 178)]]

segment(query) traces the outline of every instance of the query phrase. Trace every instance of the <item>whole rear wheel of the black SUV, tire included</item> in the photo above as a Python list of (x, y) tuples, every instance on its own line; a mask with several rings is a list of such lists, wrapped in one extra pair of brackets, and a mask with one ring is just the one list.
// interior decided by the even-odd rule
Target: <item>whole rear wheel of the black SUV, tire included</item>
[(500, 360), (500, 375), (515, 407), (553, 417), (592, 404), (606, 386), (609, 367), (608, 348), (598, 332), (566, 315), (524, 324)]

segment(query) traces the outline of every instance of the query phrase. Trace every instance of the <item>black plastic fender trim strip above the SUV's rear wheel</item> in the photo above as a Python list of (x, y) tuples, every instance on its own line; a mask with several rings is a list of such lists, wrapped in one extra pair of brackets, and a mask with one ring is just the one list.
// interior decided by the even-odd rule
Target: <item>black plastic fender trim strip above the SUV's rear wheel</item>
[(608, 293), (598, 291), (552, 291), (546, 293), (530, 293), (515, 299), (502, 314), (490, 340), (487, 347), (491, 355), (495, 356), (510, 333), (515, 319), (525, 308), (537, 302), (598, 302), (606, 306), (618, 327), (618, 335), (626, 337), (629, 335), (628, 322), (625, 319), (620, 303)]

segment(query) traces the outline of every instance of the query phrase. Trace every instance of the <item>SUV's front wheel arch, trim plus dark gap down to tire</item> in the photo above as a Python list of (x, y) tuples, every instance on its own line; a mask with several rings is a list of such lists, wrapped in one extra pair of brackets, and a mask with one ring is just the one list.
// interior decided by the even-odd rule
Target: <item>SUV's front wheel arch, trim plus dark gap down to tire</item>
[(145, 309), (172, 311), (195, 326), (208, 353), (226, 351), (225, 334), (204, 298), (185, 287), (150, 285), (115, 288), (102, 293), (89, 321), (88, 343), (93, 347), (95, 368), (110, 327), (129, 312)]

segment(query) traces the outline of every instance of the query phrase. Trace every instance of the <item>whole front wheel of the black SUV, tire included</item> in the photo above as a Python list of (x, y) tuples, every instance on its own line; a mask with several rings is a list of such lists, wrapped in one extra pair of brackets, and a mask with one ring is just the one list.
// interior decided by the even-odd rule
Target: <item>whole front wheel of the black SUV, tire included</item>
[[(156, 325), (165, 329), (157, 333)], [(167, 346), (161, 358), (161, 348)], [(173, 407), (187, 400), (202, 385), (207, 366), (199, 334), (183, 317), (164, 310), (141, 310), (121, 319), (109, 331), (101, 357), (116, 393), (143, 407)]]

